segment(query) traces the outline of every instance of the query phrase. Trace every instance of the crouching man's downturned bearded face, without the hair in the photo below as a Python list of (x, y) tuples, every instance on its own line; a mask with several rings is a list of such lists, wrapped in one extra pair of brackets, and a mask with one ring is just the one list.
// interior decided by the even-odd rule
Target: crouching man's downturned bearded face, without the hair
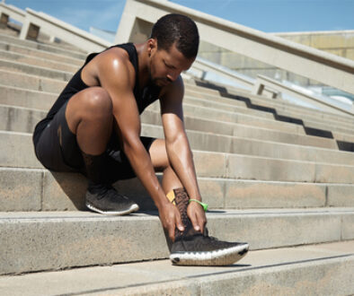
[(151, 50), (150, 80), (155, 85), (164, 87), (175, 81), (182, 71), (188, 70), (195, 58), (184, 57), (173, 44), (169, 50)]

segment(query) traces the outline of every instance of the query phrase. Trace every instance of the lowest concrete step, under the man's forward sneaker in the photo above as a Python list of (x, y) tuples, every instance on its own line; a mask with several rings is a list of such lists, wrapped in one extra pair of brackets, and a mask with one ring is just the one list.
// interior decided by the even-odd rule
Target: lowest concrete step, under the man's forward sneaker
[[(233, 266), (172, 266), (169, 260), (1, 276), (8, 296), (350, 295), (354, 242), (251, 251)], [(118, 279), (118, 281), (117, 281)]]

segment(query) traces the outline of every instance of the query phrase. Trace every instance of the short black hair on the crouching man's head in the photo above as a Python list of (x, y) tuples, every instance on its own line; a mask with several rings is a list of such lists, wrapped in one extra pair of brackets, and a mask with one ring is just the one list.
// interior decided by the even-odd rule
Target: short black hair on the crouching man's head
[(157, 48), (169, 50), (173, 43), (184, 57), (197, 57), (199, 32), (195, 22), (188, 16), (172, 13), (160, 18), (151, 31), (151, 37), (157, 39)]

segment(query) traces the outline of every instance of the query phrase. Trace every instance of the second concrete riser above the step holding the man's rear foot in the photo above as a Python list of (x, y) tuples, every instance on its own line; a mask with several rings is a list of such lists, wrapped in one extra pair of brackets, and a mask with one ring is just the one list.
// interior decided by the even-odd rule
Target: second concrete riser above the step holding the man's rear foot
[[(144, 134), (143, 134), (144, 135)], [(0, 167), (41, 169), (31, 134), (0, 132)], [(23, 155), (26, 155), (24, 158)], [(289, 161), (224, 152), (193, 151), (199, 177), (286, 182), (354, 183), (354, 166)]]

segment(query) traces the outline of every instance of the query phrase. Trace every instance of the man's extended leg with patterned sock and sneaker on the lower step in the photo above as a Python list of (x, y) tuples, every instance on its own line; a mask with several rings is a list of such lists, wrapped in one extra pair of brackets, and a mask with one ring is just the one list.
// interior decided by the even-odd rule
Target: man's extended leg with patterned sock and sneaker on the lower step
[(183, 266), (228, 266), (240, 260), (248, 251), (247, 243), (221, 241), (204, 233), (194, 231), (187, 215), (189, 196), (168, 161), (164, 140), (156, 140), (150, 147), (150, 156), (155, 170), (164, 171), (165, 194), (173, 193), (173, 200), (181, 213), (185, 230), (175, 231), (174, 242), (166, 240), (170, 248), (170, 259), (175, 265)]

